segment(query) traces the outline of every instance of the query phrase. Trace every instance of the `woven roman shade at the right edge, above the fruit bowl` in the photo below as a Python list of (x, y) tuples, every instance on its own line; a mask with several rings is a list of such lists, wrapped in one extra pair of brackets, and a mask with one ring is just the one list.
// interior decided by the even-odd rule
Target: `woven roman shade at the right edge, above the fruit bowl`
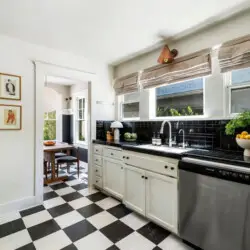
[(250, 67), (250, 35), (224, 43), (218, 58), (221, 72)]

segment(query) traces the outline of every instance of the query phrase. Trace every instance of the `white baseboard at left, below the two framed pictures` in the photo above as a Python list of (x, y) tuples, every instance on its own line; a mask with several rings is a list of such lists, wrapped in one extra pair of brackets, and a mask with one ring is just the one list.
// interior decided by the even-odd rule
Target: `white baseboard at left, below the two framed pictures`
[(35, 196), (26, 197), (20, 200), (14, 200), (0, 205), (0, 214), (21, 211), (36, 205), (42, 204), (40, 199)]

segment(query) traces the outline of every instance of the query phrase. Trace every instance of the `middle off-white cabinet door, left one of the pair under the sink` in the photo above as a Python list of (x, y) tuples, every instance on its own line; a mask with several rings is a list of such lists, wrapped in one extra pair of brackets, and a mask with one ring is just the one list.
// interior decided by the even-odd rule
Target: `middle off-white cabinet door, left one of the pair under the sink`
[(145, 171), (129, 165), (124, 167), (124, 204), (145, 215)]

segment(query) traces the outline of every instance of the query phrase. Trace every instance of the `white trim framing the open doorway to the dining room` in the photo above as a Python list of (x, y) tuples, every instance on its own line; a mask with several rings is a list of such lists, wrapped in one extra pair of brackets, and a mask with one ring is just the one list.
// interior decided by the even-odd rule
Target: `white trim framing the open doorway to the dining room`
[[(93, 73), (84, 72), (78, 69), (65, 68), (59, 65), (33, 61), (35, 65), (35, 200), (38, 203), (43, 202), (43, 122), (44, 122), (44, 79), (45, 76), (58, 76), (72, 79), (76, 82), (86, 82), (88, 80), (88, 91), (91, 93), (91, 85), (97, 81)], [(88, 99), (88, 110), (91, 111), (91, 95)], [(88, 135), (91, 136), (91, 116), (88, 113)], [(93, 185), (91, 171), (91, 140), (88, 142), (88, 159), (89, 159), (89, 186)], [(27, 206), (26, 206), (27, 207)]]

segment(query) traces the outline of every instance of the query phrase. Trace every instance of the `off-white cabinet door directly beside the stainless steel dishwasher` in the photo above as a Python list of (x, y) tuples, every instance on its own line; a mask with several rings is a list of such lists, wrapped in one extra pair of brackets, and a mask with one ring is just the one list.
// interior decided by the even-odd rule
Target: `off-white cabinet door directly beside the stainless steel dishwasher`
[(146, 216), (169, 229), (178, 231), (177, 180), (146, 171)]

